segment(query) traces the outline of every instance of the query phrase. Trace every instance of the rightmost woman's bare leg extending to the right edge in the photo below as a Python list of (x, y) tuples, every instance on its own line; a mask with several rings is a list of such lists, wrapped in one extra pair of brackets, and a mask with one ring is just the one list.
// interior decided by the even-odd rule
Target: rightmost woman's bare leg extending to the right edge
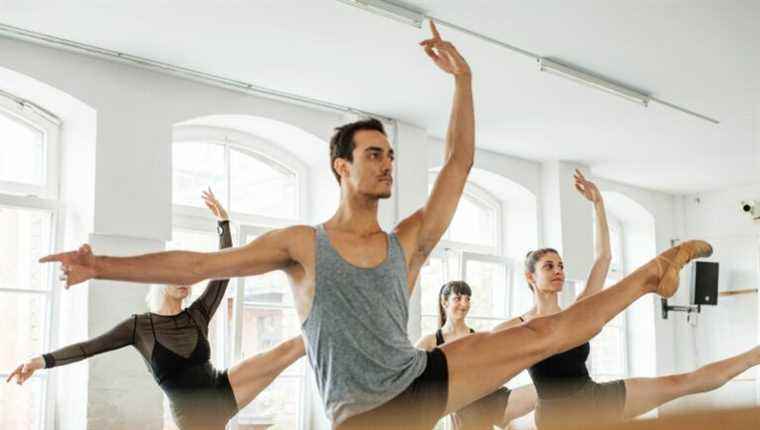
[(691, 372), (659, 378), (625, 380), (625, 418), (635, 418), (689, 394), (704, 393), (723, 386), (745, 370), (760, 364), (760, 347), (708, 364)]

